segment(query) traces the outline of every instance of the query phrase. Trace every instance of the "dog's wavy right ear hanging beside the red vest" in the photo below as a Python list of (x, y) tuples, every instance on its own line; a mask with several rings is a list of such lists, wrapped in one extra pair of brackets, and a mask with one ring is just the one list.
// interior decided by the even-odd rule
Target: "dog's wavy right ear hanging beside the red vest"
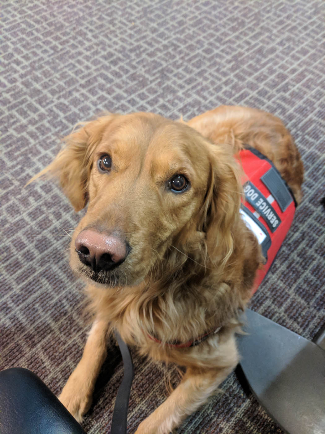
[(240, 219), (242, 169), (231, 146), (210, 143), (207, 146), (210, 176), (201, 228), (206, 233), (210, 259), (225, 265), (234, 250), (234, 232)]

